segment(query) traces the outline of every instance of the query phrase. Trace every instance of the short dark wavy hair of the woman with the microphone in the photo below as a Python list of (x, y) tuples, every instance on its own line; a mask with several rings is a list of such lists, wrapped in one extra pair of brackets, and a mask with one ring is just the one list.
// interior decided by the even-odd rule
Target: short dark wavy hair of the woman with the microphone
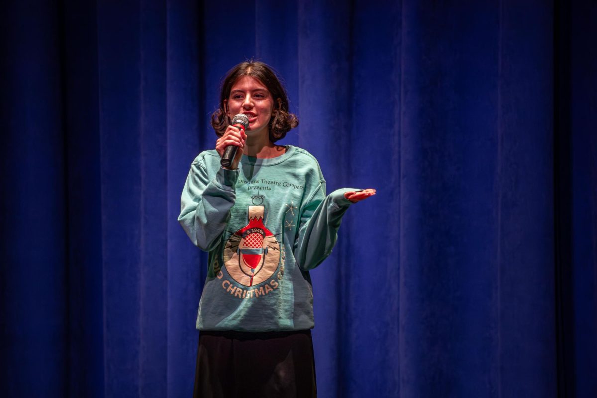
[(269, 120), (269, 139), (272, 143), (284, 138), (290, 129), (297, 127), (298, 118), (288, 112), (288, 95), (273, 69), (260, 61), (248, 60), (229, 70), (221, 85), (220, 107), (211, 115), (211, 126), (218, 137), (224, 135), (230, 125), (230, 119), (224, 109), (224, 100), (228, 100), (230, 90), (242, 76), (251, 76), (265, 85), (273, 98), (272, 118)]

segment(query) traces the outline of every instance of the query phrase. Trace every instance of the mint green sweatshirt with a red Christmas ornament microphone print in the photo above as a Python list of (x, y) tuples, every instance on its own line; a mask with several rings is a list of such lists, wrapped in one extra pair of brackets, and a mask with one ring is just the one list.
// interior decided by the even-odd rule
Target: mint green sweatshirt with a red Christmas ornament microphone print
[(313, 328), (309, 270), (336, 244), (350, 190), (326, 196), (319, 163), (293, 146), (271, 159), (243, 155), (236, 170), (221, 168), (216, 150), (200, 153), (179, 216), (190, 240), (209, 252), (197, 329)]

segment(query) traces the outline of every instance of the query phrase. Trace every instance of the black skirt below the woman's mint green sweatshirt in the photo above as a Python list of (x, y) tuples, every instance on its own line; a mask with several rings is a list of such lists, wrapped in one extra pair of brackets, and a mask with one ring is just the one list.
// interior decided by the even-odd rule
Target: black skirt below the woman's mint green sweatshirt
[(193, 397), (316, 396), (310, 330), (199, 333)]

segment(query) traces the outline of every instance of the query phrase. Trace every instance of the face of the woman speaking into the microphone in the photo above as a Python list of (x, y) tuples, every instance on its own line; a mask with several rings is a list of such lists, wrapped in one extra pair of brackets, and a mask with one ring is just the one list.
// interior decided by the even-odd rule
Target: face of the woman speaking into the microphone
[(260, 132), (269, 134), (268, 125), (273, 112), (272, 94), (253, 76), (242, 76), (235, 82), (228, 100), (224, 100), (224, 107), (230, 119), (239, 113), (247, 115), (247, 135), (257, 135)]

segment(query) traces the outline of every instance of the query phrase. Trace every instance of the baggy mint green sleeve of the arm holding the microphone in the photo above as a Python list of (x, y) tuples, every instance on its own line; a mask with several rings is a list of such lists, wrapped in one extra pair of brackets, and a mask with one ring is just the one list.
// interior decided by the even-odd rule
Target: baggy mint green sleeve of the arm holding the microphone
[(198, 162), (190, 166), (180, 198), (179, 223), (190, 240), (204, 251), (218, 243), (236, 200), (235, 184), (239, 170), (220, 168), (210, 180), (207, 169)]

